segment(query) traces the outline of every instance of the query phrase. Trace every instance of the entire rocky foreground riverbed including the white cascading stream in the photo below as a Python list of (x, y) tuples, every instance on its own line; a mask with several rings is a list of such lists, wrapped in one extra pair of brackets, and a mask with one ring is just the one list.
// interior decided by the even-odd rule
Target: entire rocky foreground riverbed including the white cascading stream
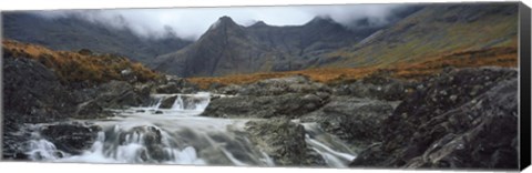
[(33, 60), (3, 63), (7, 160), (95, 162), (86, 157), (99, 154), (117, 163), (518, 166), (514, 69), (335, 84), (294, 75), (200, 90), (174, 77), (68, 85)]

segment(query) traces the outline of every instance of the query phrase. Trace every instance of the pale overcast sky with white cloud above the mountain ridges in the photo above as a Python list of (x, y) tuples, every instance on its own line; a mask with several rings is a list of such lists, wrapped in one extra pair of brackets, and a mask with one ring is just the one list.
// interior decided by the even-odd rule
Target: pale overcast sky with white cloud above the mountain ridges
[(172, 29), (178, 37), (197, 39), (219, 17), (228, 16), (242, 26), (262, 20), (272, 26), (304, 24), (317, 16), (328, 16), (340, 23), (369, 18), (386, 23), (392, 10), (405, 4), (299, 6), (299, 7), (235, 7), (175, 9), (115, 9), (40, 11), (47, 18), (80, 17), (113, 28), (130, 29), (146, 38), (166, 37)]

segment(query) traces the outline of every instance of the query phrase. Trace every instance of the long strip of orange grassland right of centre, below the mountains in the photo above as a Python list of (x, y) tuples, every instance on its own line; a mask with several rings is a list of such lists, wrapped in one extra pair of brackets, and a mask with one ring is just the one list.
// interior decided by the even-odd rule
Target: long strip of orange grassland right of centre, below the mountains
[(420, 80), (441, 72), (447, 67), (477, 68), (477, 67), (518, 67), (518, 49), (515, 47), (499, 47), (482, 50), (457, 51), (439, 57), (427, 58), (421, 62), (397, 63), (389, 67), (364, 68), (320, 68), (288, 72), (265, 72), (253, 74), (235, 74), (226, 77), (188, 78), (202, 89), (214, 83), (246, 84), (264, 79), (283, 78), (289, 75), (305, 75), (321, 83), (334, 83), (347, 80), (357, 80), (376, 72), (387, 71), (392, 78), (402, 80)]

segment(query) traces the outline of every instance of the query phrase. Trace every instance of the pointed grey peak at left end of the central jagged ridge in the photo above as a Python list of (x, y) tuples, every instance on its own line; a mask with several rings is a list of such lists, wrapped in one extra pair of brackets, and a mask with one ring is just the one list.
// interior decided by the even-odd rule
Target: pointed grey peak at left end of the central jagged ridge
[(268, 51), (244, 27), (223, 17), (194, 44), (156, 58), (153, 65), (184, 77), (250, 73), (260, 68), (265, 58), (273, 57)]

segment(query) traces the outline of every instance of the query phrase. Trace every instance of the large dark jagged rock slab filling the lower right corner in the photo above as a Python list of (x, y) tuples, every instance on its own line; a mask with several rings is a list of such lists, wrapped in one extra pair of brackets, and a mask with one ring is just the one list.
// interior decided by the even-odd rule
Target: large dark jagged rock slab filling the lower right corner
[[(518, 169), (516, 91), (516, 80), (503, 81), (480, 95), (479, 102), (469, 102), (421, 125), (412, 140), (429, 143), (429, 147), (405, 166)], [(448, 134), (441, 136), (440, 129), (446, 126), (450, 128)]]

